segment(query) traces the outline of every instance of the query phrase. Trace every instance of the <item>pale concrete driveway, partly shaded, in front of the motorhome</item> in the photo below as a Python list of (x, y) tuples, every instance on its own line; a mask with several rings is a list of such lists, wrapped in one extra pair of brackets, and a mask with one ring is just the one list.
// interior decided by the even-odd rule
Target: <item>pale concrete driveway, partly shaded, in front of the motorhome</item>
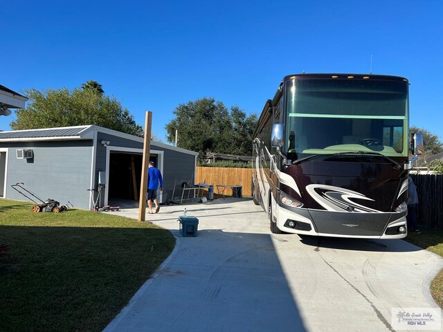
[[(198, 237), (179, 237), (185, 207)], [(394, 331), (391, 308), (437, 308), (428, 290), (443, 259), (405, 241), (271, 234), (242, 199), (162, 206), (147, 220), (176, 247), (107, 332)]]

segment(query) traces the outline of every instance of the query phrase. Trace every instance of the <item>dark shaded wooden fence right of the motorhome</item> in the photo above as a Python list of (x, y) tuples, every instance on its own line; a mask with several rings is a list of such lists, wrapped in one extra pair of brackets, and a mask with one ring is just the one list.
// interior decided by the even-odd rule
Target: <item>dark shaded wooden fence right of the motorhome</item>
[(443, 175), (410, 174), (418, 194), (418, 222), (424, 228), (443, 230)]

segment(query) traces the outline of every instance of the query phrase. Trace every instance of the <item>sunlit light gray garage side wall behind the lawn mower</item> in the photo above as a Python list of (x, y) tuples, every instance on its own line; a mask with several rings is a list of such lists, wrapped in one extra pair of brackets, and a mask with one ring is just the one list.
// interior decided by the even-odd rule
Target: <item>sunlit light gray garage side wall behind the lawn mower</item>
[[(40, 198), (70, 201), (76, 208), (89, 209), (92, 140), (1, 143), (8, 147), (6, 198), (27, 201), (10, 185), (24, 187)], [(17, 159), (16, 149), (33, 149), (34, 158)]]

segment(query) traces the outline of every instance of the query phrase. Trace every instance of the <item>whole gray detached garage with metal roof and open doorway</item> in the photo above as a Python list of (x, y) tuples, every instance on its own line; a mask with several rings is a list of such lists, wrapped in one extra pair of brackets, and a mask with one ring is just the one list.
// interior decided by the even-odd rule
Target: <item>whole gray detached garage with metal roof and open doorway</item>
[[(198, 153), (151, 142), (150, 160), (163, 175), (160, 203), (195, 183)], [(11, 185), (42, 199), (91, 209), (90, 189), (105, 185), (100, 205), (138, 203), (143, 138), (98, 126), (0, 132), (0, 198), (24, 200)], [(69, 202), (69, 203), (68, 203)]]

